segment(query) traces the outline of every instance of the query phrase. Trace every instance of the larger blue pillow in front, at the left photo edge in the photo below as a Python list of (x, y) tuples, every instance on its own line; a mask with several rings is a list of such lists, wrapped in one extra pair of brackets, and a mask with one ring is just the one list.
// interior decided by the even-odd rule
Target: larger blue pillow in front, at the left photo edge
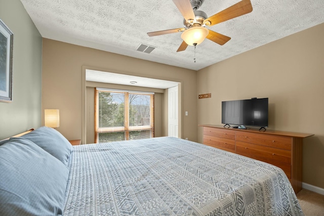
[(23, 138), (0, 146), (0, 215), (62, 215), (69, 171)]

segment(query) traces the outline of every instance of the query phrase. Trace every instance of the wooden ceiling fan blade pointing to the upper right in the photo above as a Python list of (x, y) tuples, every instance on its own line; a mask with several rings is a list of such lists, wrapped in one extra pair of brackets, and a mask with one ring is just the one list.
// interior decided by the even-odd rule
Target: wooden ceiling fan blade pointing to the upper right
[(232, 5), (229, 8), (226, 8), (225, 10), (214, 14), (213, 16), (207, 18), (204, 21), (204, 24), (208, 25), (208, 22), (210, 22), (209, 26), (225, 22), (227, 20), (233, 19), (235, 17), (239, 17), (245, 14), (248, 14), (252, 12), (252, 5), (250, 0), (242, 0), (235, 5)]

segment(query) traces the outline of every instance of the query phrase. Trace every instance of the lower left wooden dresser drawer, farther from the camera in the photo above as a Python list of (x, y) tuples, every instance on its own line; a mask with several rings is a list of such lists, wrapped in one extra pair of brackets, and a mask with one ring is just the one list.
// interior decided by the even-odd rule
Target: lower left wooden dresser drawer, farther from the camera
[(218, 149), (235, 153), (235, 141), (204, 135), (204, 144)]

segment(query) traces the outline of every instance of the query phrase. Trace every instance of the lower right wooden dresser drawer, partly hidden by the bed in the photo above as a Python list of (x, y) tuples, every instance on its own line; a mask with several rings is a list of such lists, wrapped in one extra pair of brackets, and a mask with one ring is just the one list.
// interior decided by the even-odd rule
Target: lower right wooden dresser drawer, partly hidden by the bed
[(291, 178), (291, 151), (236, 141), (236, 154), (280, 167)]

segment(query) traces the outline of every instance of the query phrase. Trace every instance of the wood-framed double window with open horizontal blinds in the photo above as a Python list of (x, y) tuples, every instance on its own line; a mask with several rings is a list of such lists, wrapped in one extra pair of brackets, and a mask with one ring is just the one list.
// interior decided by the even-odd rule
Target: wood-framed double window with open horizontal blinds
[(95, 142), (154, 137), (154, 93), (96, 88)]

